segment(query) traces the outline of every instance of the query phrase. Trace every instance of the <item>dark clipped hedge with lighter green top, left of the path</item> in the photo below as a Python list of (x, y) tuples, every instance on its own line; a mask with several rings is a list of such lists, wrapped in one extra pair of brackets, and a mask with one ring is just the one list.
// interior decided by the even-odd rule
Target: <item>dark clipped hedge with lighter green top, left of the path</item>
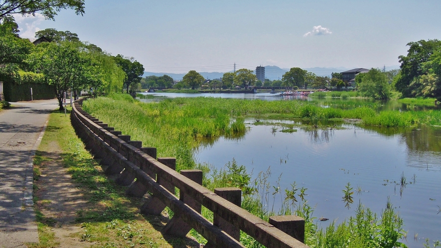
[(31, 101), (30, 88), (33, 100), (56, 97), (55, 88), (46, 84), (41, 74), (20, 71), (14, 77), (1, 77), (0, 81), (3, 81), (4, 98), (8, 102)]

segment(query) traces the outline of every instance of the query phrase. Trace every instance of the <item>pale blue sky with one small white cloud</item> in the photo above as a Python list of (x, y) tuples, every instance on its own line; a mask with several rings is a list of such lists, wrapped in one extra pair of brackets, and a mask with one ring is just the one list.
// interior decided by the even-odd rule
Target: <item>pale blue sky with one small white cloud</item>
[(20, 35), (75, 32), (151, 72), (226, 72), (258, 65), (399, 65), (406, 44), (441, 39), (440, 0), (85, 0), (55, 21), (16, 17)]

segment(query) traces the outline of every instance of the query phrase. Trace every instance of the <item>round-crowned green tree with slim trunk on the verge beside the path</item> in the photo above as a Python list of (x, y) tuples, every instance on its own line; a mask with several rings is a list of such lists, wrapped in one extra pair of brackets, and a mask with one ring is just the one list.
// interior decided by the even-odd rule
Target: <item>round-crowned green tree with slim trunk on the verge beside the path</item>
[(63, 92), (83, 88), (85, 82), (99, 82), (90, 57), (72, 42), (49, 43), (32, 53), (29, 63), (55, 86), (60, 111), (64, 110)]

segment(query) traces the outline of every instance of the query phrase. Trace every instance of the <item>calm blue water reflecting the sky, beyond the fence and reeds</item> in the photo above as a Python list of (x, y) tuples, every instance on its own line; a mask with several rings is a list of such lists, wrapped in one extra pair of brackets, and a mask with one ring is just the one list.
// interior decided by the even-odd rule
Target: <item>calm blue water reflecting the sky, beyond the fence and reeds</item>
[[(187, 94), (174, 95), (184, 97)], [(281, 99), (274, 94), (207, 95)], [(431, 242), (441, 240), (440, 127), (361, 128), (343, 124), (344, 129), (298, 129), (284, 133), (276, 124), (254, 125), (255, 122), (254, 119), (246, 120), (250, 130), (240, 139), (219, 138), (212, 145), (200, 147), (197, 161), (223, 168), (234, 158), (239, 165), (246, 166), (248, 172), (253, 171), (254, 177), (270, 167), (272, 185), (276, 186), (282, 174), (282, 190), (291, 188), (294, 181), (297, 188), (307, 188), (305, 198), (310, 206), (315, 206), (313, 216), (329, 219), (318, 223), (324, 227), (332, 220), (340, 223), (355, 216), (354, 209), (359, 201), (380, 214), (389, 197), (404, 219), (404, 229), (408, 231), (407, 242), (404, 242), (409, 247), (423, 247), (426, 238)], [(274, 132), (273, 127), (278, 130)], [(407, 184), (401, 189), (397, 184), (402, 175)], [(354, 188), (354, 203), (350, 209), (342, 201), (342, 190), (348, 182)], [(358, 187), (362, 189), (360, 193), (356, 191)], [(275, 209), (278, 203), (280, 196)]]

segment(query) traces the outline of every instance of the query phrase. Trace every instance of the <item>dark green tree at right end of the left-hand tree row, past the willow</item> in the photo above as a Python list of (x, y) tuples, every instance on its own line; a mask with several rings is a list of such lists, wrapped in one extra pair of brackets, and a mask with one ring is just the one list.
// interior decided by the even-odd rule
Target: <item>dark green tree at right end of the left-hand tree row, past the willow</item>
[[(144, 66), (133, 57), (124, 57), (121, 54), (115, 56), (114, 59), (117, 65), (126, 73), (124, 87), (126, 88), (126, 92), (129, 93), (131, 86), (136, 86), (141, 82), (144, 75)], [(133, 92), (133, 89), (131, 92)]]

